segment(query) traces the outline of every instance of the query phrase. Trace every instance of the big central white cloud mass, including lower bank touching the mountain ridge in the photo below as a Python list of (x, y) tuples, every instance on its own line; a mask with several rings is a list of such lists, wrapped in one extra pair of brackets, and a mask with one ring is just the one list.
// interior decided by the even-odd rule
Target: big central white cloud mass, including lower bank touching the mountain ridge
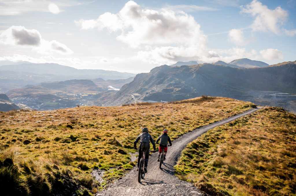
[(76, 24), (82, 29), (107, 28), (119, 32), (117, 40), (140, 48), (136, 58), (156, 65), (216, 55), (208, 51), (207, 36), (200, 24), (184, 12), (141, 9), (134, 1), (128, 1), (117, 14), (106, 12), (98, 19), (81, 19)]

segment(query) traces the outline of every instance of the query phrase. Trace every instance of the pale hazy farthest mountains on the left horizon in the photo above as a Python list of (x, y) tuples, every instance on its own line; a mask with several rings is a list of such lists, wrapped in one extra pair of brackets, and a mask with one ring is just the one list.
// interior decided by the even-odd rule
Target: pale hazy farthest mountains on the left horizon
[[(3, 65), (4, 64), (4, 65)], [(0, 61), (0, 92), (7, 92), (25, 85), (36, 85), (42, 82), (58, 82), (73, 79), (104, 80), (127, 79), (132, 73), (121, 73), (108, 70), (76, 69), (56, 63), (30, 63)]]

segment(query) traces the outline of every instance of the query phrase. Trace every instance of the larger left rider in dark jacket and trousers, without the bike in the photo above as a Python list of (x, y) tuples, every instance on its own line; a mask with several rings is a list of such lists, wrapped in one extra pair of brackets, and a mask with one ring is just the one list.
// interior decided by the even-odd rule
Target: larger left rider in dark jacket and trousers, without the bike
[(142, 152), (145, 154), (145, 164), (144, 164), (144, 172), (147, 173), (147, 165), (149, 160), (149, 150), (150, 150), (150, 141), (153, 144), (153, 149), (156, 150), (155, 142), (152, 138), (152, 136), (148, 133), (148, 129), (145, 127), (142, 129), (142, 133), (136, 138), (136, 140), (133, 142), (133, 148), (137, 150), (137, 142), (140, 140), (140, 146), (139, 146), (139, 158), (138, 158), (138, 168), (139, 170), (139, 164), (142, 156)]

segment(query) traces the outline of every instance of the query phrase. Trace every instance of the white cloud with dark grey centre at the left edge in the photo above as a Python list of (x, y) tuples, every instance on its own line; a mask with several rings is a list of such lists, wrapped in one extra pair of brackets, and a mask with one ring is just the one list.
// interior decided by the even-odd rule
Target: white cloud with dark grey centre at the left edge
[(66, 45), (56, 41), (46, 41), (36, 29), (26, 29), (22, 26), (12, 26), (0, 34), (0, 44), (32, 47), (39, 53), (58, 52), (60, 54), (73, 53)]

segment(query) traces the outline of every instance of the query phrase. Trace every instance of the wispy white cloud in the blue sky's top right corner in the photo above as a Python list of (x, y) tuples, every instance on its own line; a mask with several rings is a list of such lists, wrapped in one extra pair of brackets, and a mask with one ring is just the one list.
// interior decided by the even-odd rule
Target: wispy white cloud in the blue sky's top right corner
[(240, 6), (241, 13), (250, 14), (255, 17), (251, 28), (253, 31), (272, 32), (281, 34), (282, 25), (287, 21), (288, 12), (281, 7), (276, 9), (268, 9), (260, 1), (254, 0), (250, 4)]

